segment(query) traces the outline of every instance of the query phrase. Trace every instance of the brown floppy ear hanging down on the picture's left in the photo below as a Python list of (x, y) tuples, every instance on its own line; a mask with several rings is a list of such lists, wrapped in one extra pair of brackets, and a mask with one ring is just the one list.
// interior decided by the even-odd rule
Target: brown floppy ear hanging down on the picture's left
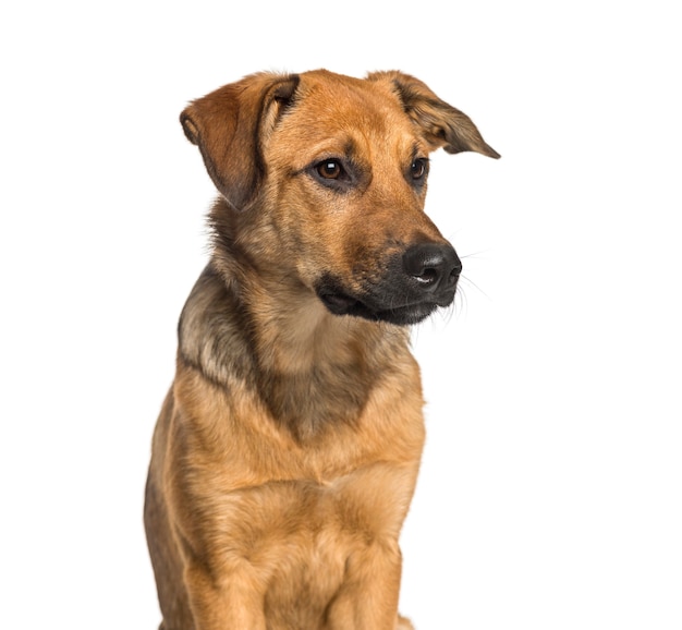
[(256, 196), (265, 175), (263, 143), (297, 85), (297, 75), (252, 74), (192, 101), (180, 114), (216, 187), (239, 210)]

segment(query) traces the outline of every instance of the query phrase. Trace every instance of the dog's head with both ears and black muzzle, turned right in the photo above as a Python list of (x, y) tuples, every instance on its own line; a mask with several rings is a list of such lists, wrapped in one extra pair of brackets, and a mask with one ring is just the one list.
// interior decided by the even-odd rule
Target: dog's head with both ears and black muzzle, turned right
[(424, 214), (428, 154), (499, 155), (421, 81), (255, 74), (181, 122), (227, 202), (218, 246), (294, 276), (338, 315), (413, 324), (452, 302), (462, 265)]

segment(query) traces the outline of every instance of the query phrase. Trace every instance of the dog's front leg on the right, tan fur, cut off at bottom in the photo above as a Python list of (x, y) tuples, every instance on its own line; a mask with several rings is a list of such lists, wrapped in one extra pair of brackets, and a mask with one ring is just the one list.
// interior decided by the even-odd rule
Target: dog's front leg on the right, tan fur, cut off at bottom
[[(328, 609), (328, 630), (397, 630), (402, 558), (397, 542), (374, 543), (346, 561), (343, 585)], [(407, 622), (409, 623), (409, 622)]]

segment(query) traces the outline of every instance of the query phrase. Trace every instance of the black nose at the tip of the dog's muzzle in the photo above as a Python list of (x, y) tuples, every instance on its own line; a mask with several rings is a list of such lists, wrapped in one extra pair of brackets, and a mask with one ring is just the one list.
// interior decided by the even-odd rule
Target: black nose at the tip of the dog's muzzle
[(449, 243), (423, 243), (403, 254), (403, 269), (425, 291), (440, 293), (454, 290), (462, 263)]

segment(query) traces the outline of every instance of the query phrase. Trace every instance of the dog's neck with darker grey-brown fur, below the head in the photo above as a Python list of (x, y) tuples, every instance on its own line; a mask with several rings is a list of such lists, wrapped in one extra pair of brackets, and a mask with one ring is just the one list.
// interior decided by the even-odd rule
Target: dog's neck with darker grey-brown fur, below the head
[(179, 358), (219, 386), (255, 388), (273, 420), (305, 439), (360, 416), (394, 367), (383, 358), (409, 352), (407, 332), (332, 315), (304, 290), (283, 310), (277, 292), (292, 287), (281, 281), (226, 281), (209, 265), (183, 310)]

